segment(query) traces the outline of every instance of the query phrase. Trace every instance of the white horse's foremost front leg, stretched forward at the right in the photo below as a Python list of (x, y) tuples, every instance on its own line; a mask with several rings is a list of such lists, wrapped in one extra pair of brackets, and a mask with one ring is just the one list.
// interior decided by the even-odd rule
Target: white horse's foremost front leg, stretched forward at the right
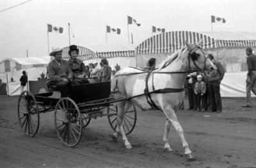
[(172, 125), (174, 126), (175, 130), (180, 136), (180, 139), (182, 141), (182, 146), (185, 149), (185, 155), (188, 158), (188, 160), (195, 160), (195, 156), (191, 152), (191, 150), (188, 147), (188, 142), (186, 141), (184, 137), (183, 129), (177, 119), (177, 116), (175, 114), (175, 111), (171, 105), (166, 105), (164, 108), (164, 113), (166, 114), (166, 117), (172, 122)]

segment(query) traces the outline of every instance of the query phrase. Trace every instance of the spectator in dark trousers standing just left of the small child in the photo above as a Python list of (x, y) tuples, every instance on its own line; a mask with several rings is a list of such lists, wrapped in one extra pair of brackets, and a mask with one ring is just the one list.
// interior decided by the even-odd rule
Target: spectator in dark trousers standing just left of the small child
[(197, 100), (196, 95), (194, 92), (196, 83), (196, 72), (190, 73), (188, 75), (188, 103), (189, 103), (189, 109), (188, 110), (194, 110), (197, 109)]

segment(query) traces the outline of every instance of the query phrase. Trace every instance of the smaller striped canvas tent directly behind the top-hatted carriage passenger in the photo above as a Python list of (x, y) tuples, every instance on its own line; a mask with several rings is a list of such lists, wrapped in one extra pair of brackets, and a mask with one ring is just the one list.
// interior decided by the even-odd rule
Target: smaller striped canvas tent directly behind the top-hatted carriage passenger
[[(108, 59), (114, 73), (120, 68), (136, 65), (135, 50), (132, 46), (121, 45), (93, 45), (93, 46), (77, 46), (79, 49), (79, 59), (82, 59), (85, 65), (89, 63), (100, 63), (102, 58)], [(63, 49), (63, 59), (69, 59), (69, 47)]]

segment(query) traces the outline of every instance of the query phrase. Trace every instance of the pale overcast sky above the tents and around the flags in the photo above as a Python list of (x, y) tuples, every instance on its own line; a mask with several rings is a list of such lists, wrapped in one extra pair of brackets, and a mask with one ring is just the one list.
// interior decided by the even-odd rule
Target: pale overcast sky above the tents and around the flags
[[(68, 22), (75, 38), (71, 44), (106, 44), (106, 25), (121, 34), (108, 33), (108, 44), (128, 45), (127, 15), (141, 24), (129, 25), (134, 46), (152, 36), (152, 26), (166, 31), (211, 31), (211, 15), (225, 18), (213, 31), (256, 31), (253, 0), (0, 0), (0, 61), (7, 57), (48, 56), (47, 24), (63, 27), (49, 33), (52, 47), (67, 47)], [(71, 33), (72, 34), (72, 33)]]

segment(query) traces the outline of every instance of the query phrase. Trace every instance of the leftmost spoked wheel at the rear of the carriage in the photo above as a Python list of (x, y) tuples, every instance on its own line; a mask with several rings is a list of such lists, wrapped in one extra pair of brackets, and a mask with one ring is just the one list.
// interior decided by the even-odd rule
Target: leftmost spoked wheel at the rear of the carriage
[(39, 111), (35, 96), (24, 91), (19, 96), (18, 118), (22, 131), (29, 137), (34, 137), (39, 128)]

